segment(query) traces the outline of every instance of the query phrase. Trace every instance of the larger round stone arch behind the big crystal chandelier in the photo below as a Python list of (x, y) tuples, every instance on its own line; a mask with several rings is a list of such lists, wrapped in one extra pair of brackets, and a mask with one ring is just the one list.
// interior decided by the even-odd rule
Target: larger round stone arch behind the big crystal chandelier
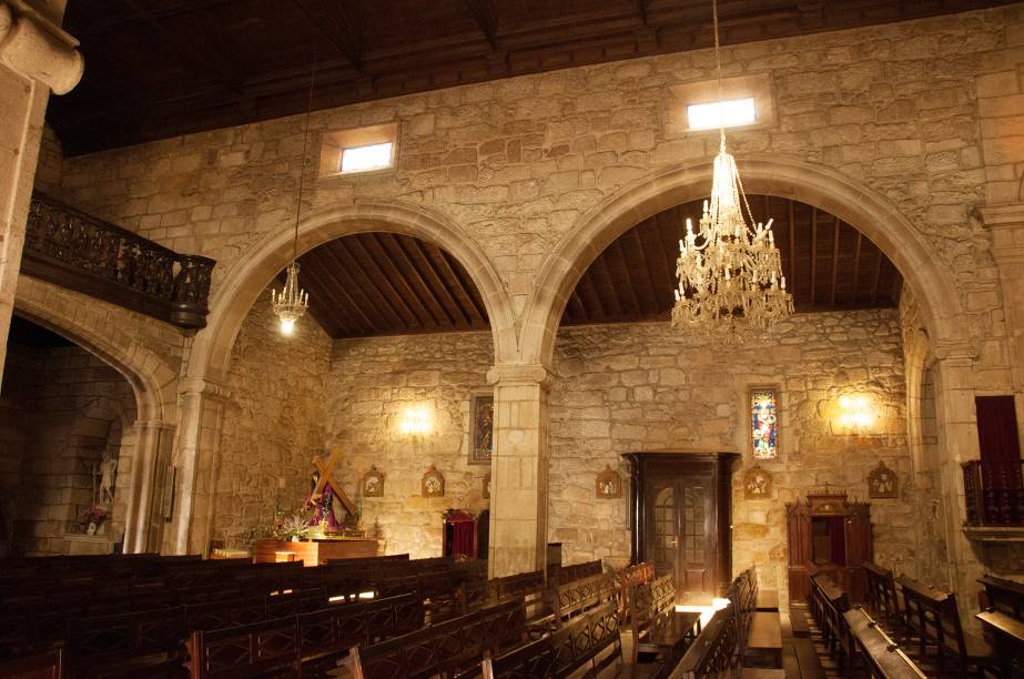
[[(615, 239), (641, 221), (707, 196), (712, 161), (671, 168), (635, 182), (595, 206), (564, 237), (538, 276), (519, 331), (521, 361), (549, 365), (561, 313), (590, 263)], [(795, 159), (744, 154), (739, 161), (744, 189), (794, 199), (855, 226), (903, 275), (921, 304), (932, 337), (965, 338), (960, 295), (943, 265), (911, 222), (886, 199), (824, 165)]]

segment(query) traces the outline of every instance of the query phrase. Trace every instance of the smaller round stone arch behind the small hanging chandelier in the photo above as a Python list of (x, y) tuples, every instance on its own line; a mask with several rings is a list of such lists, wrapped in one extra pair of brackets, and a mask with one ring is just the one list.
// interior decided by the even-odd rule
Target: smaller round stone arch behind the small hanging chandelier
[[(462, 263), (480, 291), (490, 321), (495, 362), (514, 359), (515, 312), (497, 271), (483, 249), (446, 216), (419, 205), (387, 201), (357, 201), (306, 214), (298, 223), (298, 252), (327, 241), (371, 231), (402, 233), (428, 241)], [(267, 234), (229, 272), (210, 305), (207, 326), (192, 348), (187, 375), (222, 381), (242, 322), (274, 276), (292, 260), (291, 229)]]

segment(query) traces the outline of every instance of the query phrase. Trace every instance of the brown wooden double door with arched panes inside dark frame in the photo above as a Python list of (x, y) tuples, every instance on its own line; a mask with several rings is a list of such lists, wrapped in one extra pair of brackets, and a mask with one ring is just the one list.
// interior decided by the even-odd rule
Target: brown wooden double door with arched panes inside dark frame
[(714, 592), (714, 530), (710, 478), (681, 476), (648, 480), (646, 559), (659, 574), (671, 572), (680, 591)]

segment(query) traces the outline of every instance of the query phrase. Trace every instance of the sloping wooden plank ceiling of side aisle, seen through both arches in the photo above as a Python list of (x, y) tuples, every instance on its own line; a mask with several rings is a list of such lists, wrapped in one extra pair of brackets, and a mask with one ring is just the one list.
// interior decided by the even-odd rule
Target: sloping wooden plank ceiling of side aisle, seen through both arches
[[(772, 229), (798, 312), (892, 307), (902, 276), (866, 236), (797, 201), (752, 195)], [(682, 224), (700, 201), (645, 220), (587, 268), (562, 315), (566, 325), (668, 320)], [(333, 337), (487, 330), (487, 311), (466, 270), (447, 252), (393, 233), (345, 236), (298, 260), (310, 313)]]

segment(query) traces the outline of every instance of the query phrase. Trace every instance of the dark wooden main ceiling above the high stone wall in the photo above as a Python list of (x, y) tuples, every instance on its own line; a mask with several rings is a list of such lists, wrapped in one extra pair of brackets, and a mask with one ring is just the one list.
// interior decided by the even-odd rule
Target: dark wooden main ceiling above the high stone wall
[[(720, 0), (724, 44), (1014, 0)], [(710, 0), (71, 0), (80, 154), (315, 109), (711, 44)]]

